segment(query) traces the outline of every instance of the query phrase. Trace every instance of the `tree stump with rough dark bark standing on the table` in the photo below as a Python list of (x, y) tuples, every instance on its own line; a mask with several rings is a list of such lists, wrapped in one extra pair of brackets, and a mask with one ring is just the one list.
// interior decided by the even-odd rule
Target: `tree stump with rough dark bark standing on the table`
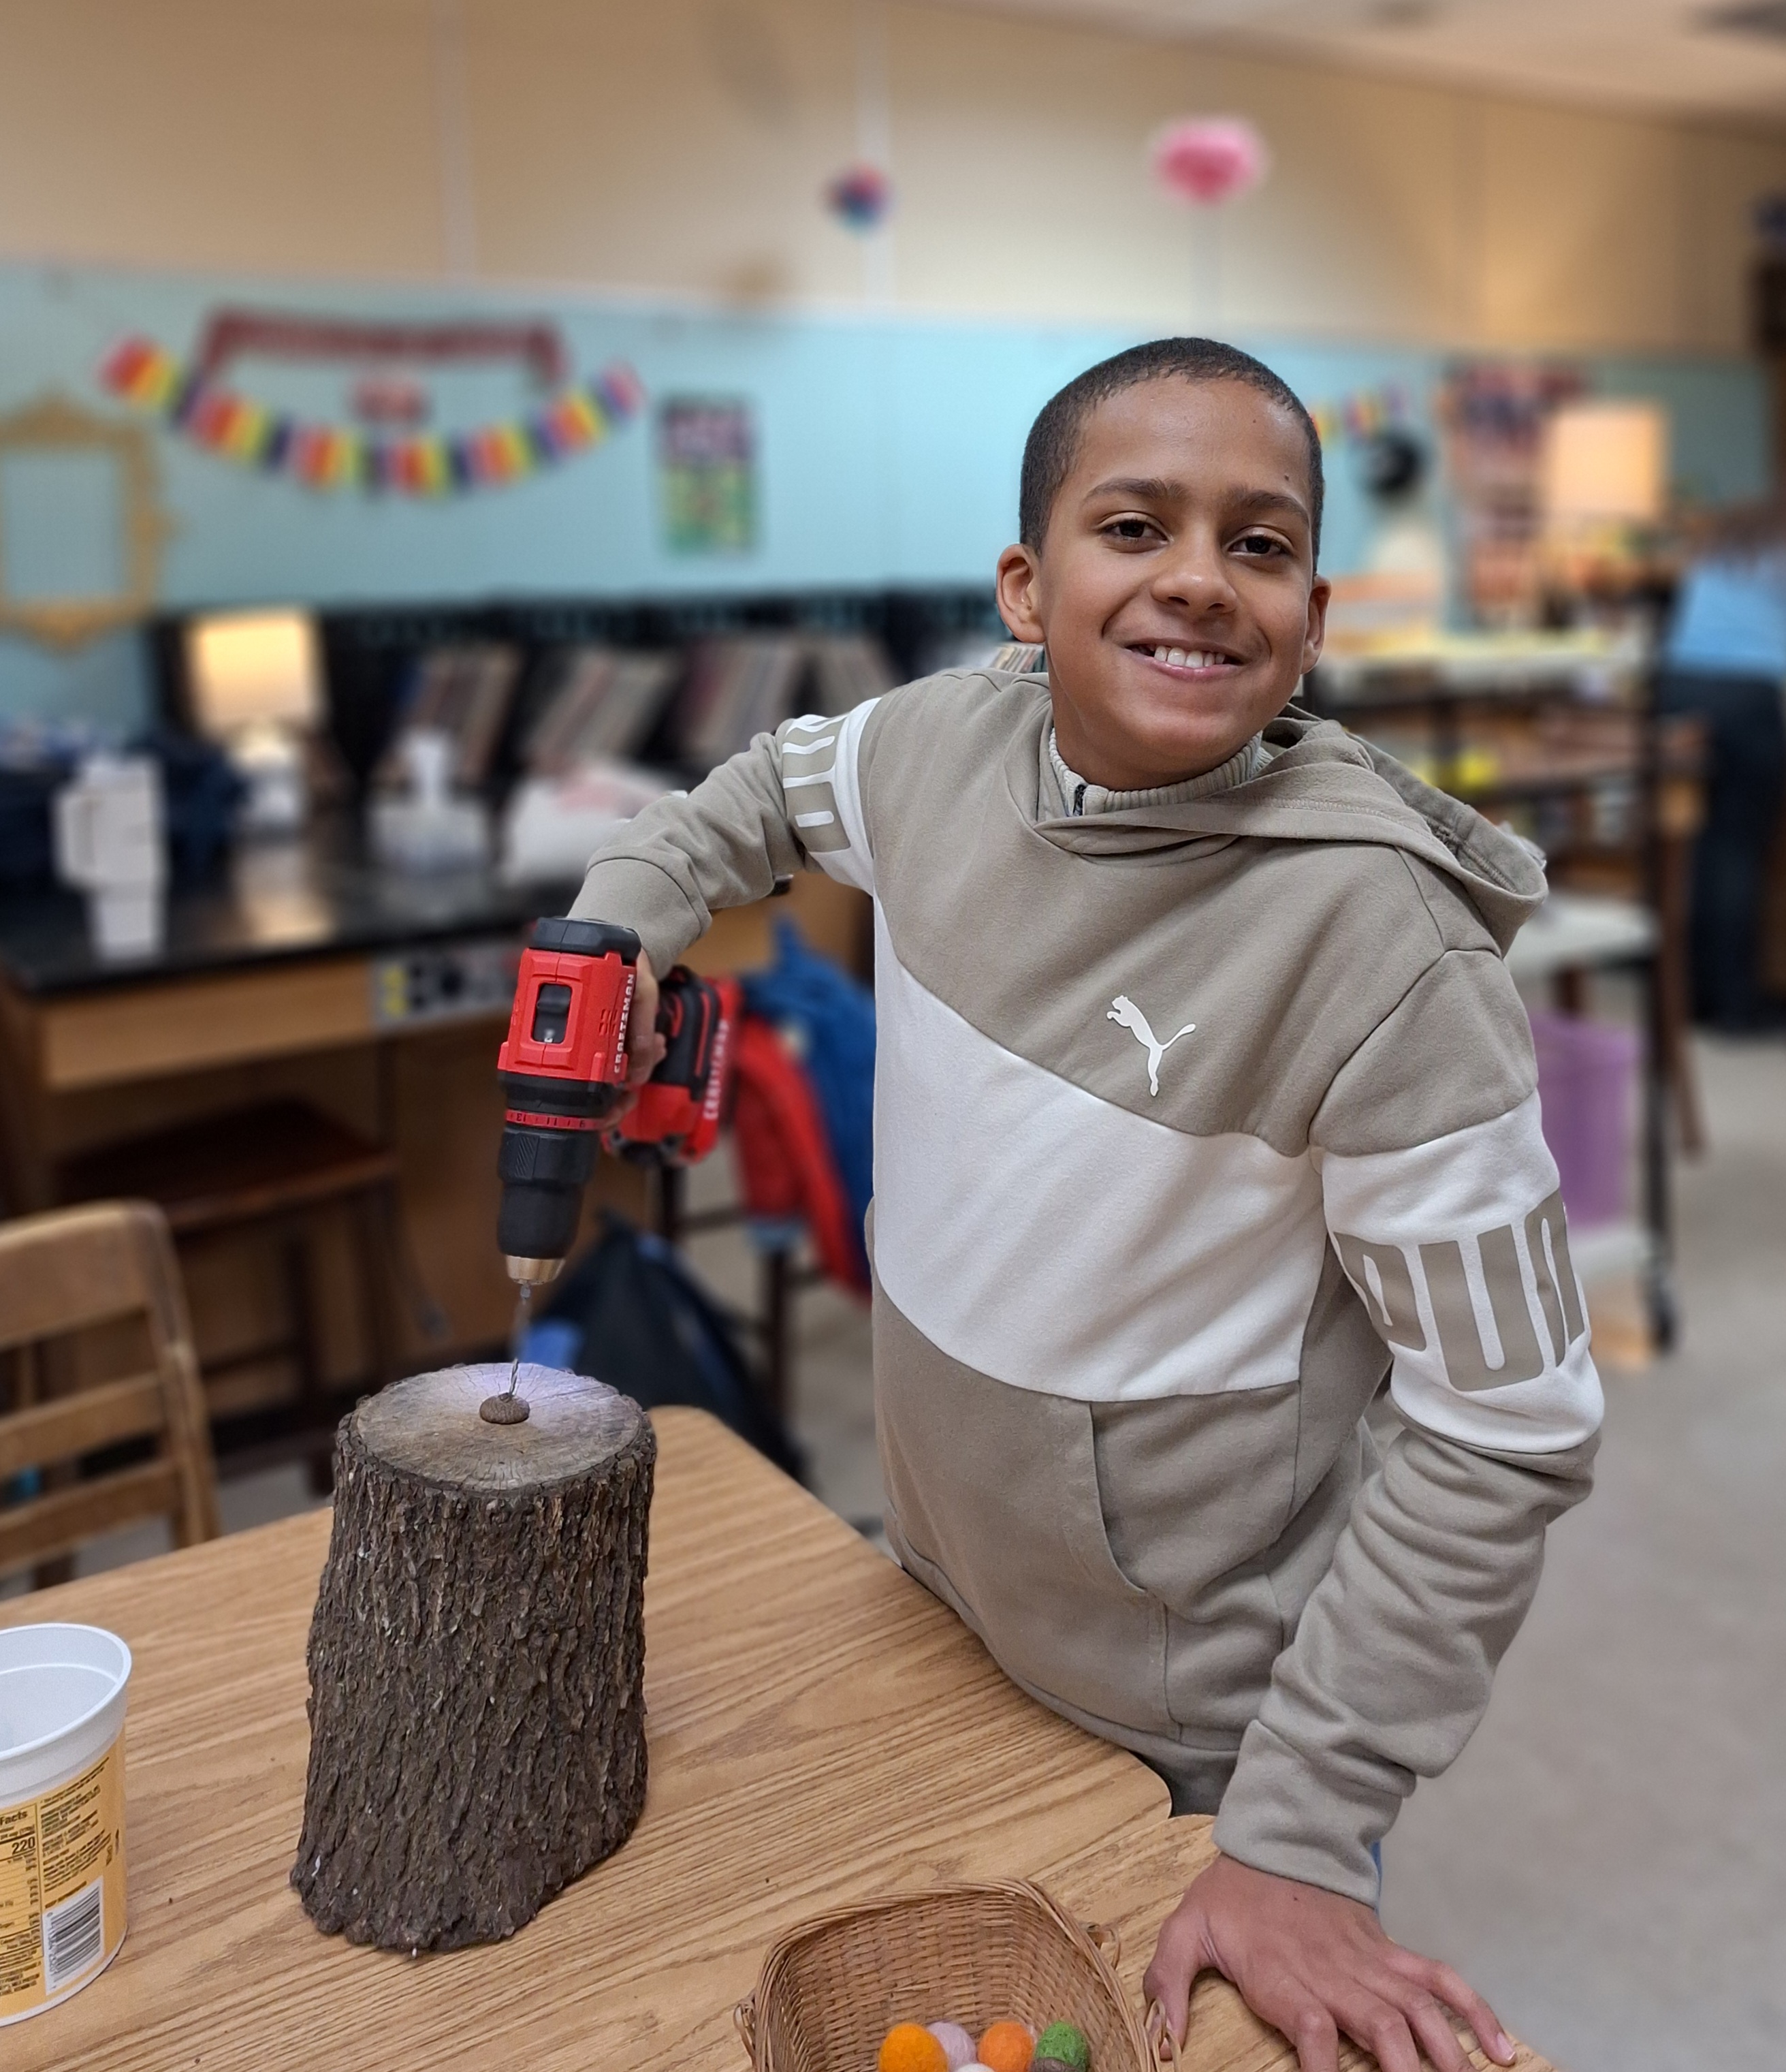
[(497, 1941), (644, 1807), (644, 1558), (657, 1436), (628, 1397), (508, 1365), (396, 1382), (336, 1440), (311, 1620), (292, 1883), (385, 1950)]

